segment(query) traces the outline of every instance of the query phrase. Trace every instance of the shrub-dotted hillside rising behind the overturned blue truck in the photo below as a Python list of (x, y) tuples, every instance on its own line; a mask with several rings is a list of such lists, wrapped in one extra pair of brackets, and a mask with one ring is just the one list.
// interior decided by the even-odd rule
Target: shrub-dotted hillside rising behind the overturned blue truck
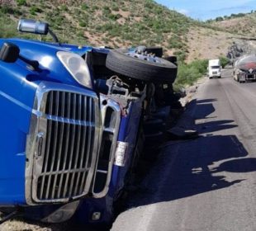
[[(0, 7), (0, 37), (31, 37), (16, 31), (17, 21), (25, 17), (48, 21), (61, 41), (79, 45), (114, 48), (161, 45), (166, 55), (176, 54), (181, 60), (210, 59), (209, 52), (220, 55), (227, 47), (215, 45), (218, 29), (208, 28), (205, 23), (193, 21), (152, 0), (9, 2), (12, 4)], [(216, 42), (205, 42), (209, 37)]]

